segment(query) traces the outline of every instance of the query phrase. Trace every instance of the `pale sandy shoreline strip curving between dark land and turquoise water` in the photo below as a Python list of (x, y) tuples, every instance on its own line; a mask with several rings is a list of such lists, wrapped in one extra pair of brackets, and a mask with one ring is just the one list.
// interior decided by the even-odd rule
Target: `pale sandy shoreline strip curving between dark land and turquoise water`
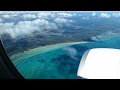
[[(53, 44), (53, 45), (39, 46), (37, 48), (29, 49), (27, 51), (19, 52), (17, 54), (14, 54), (14, 55), (10, 56), (10, 59), (12, 60), (15, 57), (22, 57), (22, 56), (25, 56), (25, 55), (28, 56), (28, 57), (32, 57), (32, 56), (37, 55), (37, 54), (43, 54), (43, 53), (49, 52), (51, 50), (60, 49), (63, 46), (66, 46), (66, 45), (70, 46), (70, 45), (76, 45), (76, 44), (82, 44), (82, 43), (90, 43), (90, 42), (87, 42), (87, 41), (68, 42), (68, 43), (58, 43), (58, 44)], [(31, 55), (31, 56), (29, 56), (29, 55)]]

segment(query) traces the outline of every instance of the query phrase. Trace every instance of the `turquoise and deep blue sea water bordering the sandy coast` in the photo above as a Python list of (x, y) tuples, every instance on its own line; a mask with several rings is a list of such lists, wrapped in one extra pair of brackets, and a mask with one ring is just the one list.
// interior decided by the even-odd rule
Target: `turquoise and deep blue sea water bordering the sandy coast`
[(47, 48), (48, 52), (34, 51), (34, 55), (23, 54), (12, 60), (27, 79), (75, 79), (82, 55), (92, 48), (120, 49), (120, 36), (112, 35), (95, 42), (61, 46), (51, 50)]

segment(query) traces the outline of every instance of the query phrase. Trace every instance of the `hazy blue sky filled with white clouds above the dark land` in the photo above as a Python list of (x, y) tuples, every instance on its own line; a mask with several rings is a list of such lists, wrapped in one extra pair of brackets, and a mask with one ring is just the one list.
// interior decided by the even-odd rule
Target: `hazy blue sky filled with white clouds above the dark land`
[(79, 20), (94, 18), (120, 18), (118, 11), (0, 11), (0, 35), (9, 34), (11, 38), (41, 34), (47, 30), (59, 30), (63, 26), (72, 26)]

